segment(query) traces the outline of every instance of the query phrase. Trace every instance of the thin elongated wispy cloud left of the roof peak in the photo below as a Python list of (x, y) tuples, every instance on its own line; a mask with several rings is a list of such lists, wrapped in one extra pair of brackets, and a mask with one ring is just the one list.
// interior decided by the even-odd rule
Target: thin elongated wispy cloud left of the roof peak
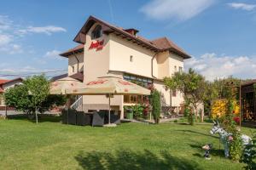
[(20, 29), (19, 32), (21, 34), (26, 34), (29, 32), (32, 33), (44, 33), (47, 35), (51, 35), (55, 32), (66, 32), (67, 30), (65, 28), (59, 27), (59, 26), (28, 26), (26, 29)]

